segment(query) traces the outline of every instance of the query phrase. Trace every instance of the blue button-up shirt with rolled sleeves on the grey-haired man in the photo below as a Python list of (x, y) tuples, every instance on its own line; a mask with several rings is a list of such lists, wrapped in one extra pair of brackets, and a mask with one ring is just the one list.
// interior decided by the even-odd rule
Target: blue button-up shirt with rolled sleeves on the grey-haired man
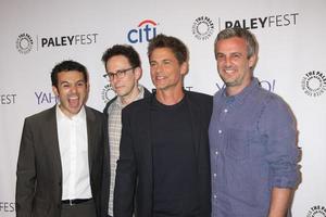
[(256, 78), (237, 95), (214, 95), (210, 145), (212, 217), (264, 217), (272, 189), (297, 183), (293, 115)]

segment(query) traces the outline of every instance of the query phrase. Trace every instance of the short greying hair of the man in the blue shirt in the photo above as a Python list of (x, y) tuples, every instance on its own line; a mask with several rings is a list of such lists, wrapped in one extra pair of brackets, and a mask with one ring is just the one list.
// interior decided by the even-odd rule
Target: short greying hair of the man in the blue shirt
[(239, 37), (246, 41), (248, 59), (251, 58), (252, 55), (258, 55), (259, 43), (258, 43), (254, 35), (246, 28), (234, 27), (234, 28), (226, 28), (218, 33), (218, 35), (215, 39), (215, 43), (214, 43), (215, 58), (217, 54), (216, 53), (216, 43), (220, 40), (224, 40), (224, 39), (228, 39), (228, 38), (233, 38), (233, 37)]

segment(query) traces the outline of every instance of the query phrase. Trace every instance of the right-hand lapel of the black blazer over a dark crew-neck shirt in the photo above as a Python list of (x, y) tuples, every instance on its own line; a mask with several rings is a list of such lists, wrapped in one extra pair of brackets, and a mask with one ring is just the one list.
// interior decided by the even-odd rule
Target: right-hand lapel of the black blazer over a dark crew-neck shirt
[(186, 102), (190, 112), (191, 136), (193, 139), (195, 154), (198, 156), (198, 150), (200, 145), (200, 132), (201, 132), (201, 117), (200, 106), (192, 100), (191, 94), (185, 91)]

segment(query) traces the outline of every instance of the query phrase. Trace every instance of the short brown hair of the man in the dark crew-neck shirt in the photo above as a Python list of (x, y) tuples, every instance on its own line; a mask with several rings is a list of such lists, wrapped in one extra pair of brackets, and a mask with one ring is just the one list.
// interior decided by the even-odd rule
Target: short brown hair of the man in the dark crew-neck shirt
[(156, 48), (170, 48), (178, 60), (179, 64), (188, 61), (189, 52), (186, 44), (178, 38), (172, 36), (165, 36), (163, 34), (158, 35), (150, 40), (148, 46), (148, 58), (150, 59), (152, 52)]

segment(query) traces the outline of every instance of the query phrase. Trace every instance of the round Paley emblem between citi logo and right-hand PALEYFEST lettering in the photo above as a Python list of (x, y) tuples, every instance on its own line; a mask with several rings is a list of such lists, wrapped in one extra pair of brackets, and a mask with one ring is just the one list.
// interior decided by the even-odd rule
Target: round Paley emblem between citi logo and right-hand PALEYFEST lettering
[(215, 30), (213, 21), (208, 16), (199, 16), (192, 24), (192, 35), (199, 40), (209, 39)]

